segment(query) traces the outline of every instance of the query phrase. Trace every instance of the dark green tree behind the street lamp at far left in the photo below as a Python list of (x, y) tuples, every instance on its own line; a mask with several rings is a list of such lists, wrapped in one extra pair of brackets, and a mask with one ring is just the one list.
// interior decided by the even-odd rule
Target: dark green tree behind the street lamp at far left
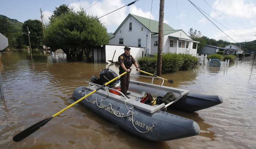
[[(43, 30), (42, 30), (42, 24), (39, 20), (27, 20), (24, 22), (23, 26), (22, 26), (22, 32), (24, 33), (28, 33), (28, 29), (30, 31), (30, 44), (31, 44), (31, 48), (38, 49), (38, 46), (40, 46), (42, 44), (42, 40), (43, 40)], [(24, 38), (24, 43), (26, 45), (29, 45), (29, 39), (28, 39), (28, 35), (27, 34), (23, 34), (23, 38)]]

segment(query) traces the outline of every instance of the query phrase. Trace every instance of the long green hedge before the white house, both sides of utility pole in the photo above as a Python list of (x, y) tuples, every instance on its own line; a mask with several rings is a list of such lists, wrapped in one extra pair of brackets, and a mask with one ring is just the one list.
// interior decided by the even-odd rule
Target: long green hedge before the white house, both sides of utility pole
[[(157, 55), (154, 57), (140, 57), (137, 59), (139, 68), (149, 73), (156, 73)], [(188, 54), (164, 53), (162, 56), (162, 73), (178, 70), (189, 70), (197, 64), (197, 58)]]

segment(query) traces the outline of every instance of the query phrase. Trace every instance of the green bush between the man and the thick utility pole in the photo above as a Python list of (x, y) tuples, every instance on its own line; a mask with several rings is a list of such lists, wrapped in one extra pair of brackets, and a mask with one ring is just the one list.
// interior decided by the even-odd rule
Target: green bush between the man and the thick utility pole
[(139, 68), (143, 71), (155, 74), (157, 67), (157, 58), (156, 57), (140, 57), (137, 59)]

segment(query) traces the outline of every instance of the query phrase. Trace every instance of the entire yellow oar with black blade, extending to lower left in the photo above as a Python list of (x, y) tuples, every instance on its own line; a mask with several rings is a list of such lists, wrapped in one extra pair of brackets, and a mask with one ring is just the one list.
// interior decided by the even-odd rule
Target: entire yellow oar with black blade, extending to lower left
[(98, 87), (97, 89), (93, 90), (92, 92), (90, 92), (89, 94), (87, 94), (86, 96), (78, 99), (77, 101), (73, 102), (72, 104), (70, 104), (69, 106), (65, 107), (64, 109), (60, 110), (58, 113), (54, 114), (53, 116), (51, 116), (50, 118), (44, 119), (32, 126), (30, 126), (29, 128), (25, 129), (24, 131), (20, 132), (19, 134), (15, 135), (12, 140), (15, 142), (19, 142), (23, 139), (25, 139), (26, 137), (28, 137), (29, 135), (31, 135), (32, 133), (34, 133), (35, 131), (37, 131), (39, 128), (41, 128), (42, 126), (44, 126), (46, 123), (48, 123), (52, 118), (56, 117), (57, 115), (61, 114), (62, 112), (64, 112), (66, 109), (70, 108), (71, 106), (75, 105), (76, 103), (82, 101), (83, 99), (85, 99), (86, 97), (90, 96), (91, 94), (95, 93), (96, 91), (100, 90), (101, 88), (105, 87), (106, 85), (108, 85), (109, 83), (115, 81), (116, 79), (120, 78), (122, 75), (126, 74), (127, 72), (122, 73), (121, 75), (115, 77), (114, 79), (108, 81), (107, 83), (101, 85), (100, 87)]

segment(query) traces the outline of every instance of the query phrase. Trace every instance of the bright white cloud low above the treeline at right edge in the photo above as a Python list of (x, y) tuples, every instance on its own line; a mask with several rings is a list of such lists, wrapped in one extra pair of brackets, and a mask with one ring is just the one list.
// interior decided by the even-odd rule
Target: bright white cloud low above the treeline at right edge
[[(233, 40), (235, 40), (236, 42), (245, 42), (245, 41), (254, 41), (255, 40), (255, 34), (256, 34), (256, 27), (252, 28), (252, 29), (238, 29), (238, 30), (223, 30), (227, 35), (229, 35)], [(235, 35), (234, 33), (236, 33), (237, 35)], [(242, 34), (242, 35), (240, 35)], [(229, 41), (234, 43), (233, 40), (231, 40), (229, 37), (227, 37), (227, 35), (225, 35), (224, 33), (218, 32), (214, 35), (214, 38), (216, 40), (224, 40), (224, 41)]]

